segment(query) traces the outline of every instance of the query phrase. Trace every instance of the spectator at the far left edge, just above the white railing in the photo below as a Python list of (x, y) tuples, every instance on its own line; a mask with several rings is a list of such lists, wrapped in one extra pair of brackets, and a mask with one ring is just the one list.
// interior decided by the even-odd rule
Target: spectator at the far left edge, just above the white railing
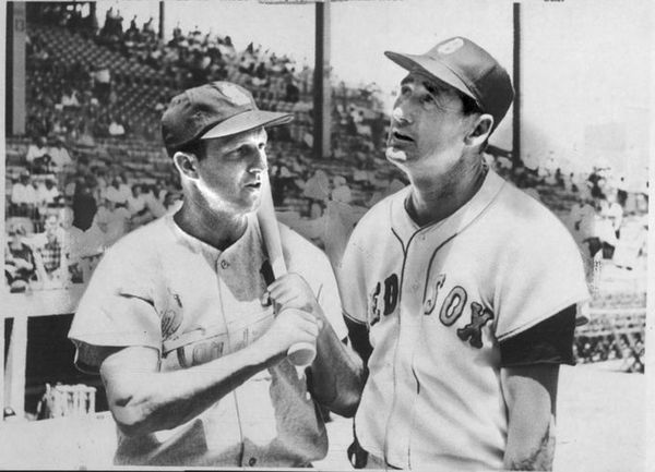
[(10, 291), (24, 292), (31, 280), (36, 278), (34, 253), (29, 245), (23, 242), (25, 228), (10, 227), (4, 250), (4, 277)]

